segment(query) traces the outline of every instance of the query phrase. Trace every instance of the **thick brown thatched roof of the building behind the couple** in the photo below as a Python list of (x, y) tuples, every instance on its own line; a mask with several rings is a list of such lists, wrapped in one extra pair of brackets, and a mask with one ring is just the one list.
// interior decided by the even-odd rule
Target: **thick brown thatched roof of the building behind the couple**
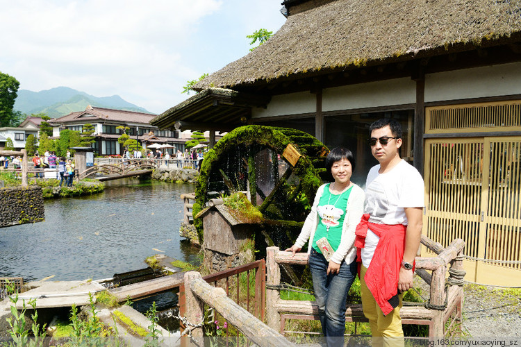
[(233, 88), (520, 42), (521, 0), (336, 0), (197, 83)]

